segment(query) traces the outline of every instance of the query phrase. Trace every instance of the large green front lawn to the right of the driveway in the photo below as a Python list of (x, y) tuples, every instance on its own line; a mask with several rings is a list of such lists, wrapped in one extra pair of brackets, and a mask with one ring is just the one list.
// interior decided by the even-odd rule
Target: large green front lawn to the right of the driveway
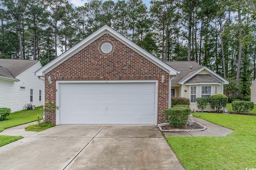
[(193, 115), (234, 132), (225, 137), (166, 137), (186, 170), (255, 168), (256, 116)]

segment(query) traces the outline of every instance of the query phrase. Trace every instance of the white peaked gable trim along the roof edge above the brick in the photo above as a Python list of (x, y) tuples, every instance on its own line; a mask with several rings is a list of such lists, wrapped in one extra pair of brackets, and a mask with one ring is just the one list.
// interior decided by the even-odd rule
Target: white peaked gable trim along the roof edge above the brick
[(40, 68), (36, 72), (36, 75), (44, 76), (46, 73), (51, 71), (53, 68), (55, 68), (62, 62), (66, 61), (67, 59), (72, 57), (74, 54), (78, 53), (80, 50), (84, 49), (86, 46), (88, 46), (90, 43), (92, 43), (93, 41), (95, 41), (96, 39), (98, 39), (99, 37), (104, 35), (105, 33), (108, 33), (109, 35), (111, 35), (112, 37), (114, 37), (115, 39), (117, 39), (118, 41), (123, 43), (124, 45), (126, 45), (126, 46), (130, 47), (132, 50), (136, 51), (136, 53), (140, 54), (141, 56), (145, 57), (152, 63), (156, 64), (157, 66), (159, 66), (160, 68), (162, 68), (163, 70), (168, 72), (169, 75), (177, 74), (177, 71), (174, 68), (172, 68), (168, 64), (162, 62), (160, 59), (154, 57), (153, 55), (151, 55), (150, 53), (148, 53), (147, 51), (145, 51), (144, 49), (142, 49), (141, 47), (139, 47), (138, 45), (136, 45), (135, 43), (133, 43), (132, 41), (130, 41), (129, 39), (124, 37), (123, 35), (121, 35), (120, 33), (116, 32), (114, 29), (110, 28), (107, 25), (104, 25), (103, 27), (98, 29), (98, 31), (92, 33), (86, 39), (84, 39), (80, 43), (76, 44), (74, 47), (72, 47), (71, 49), (69, 49), (68, 51), (66, 51), (65, 53), (63, 53), (62, 55), (60, 55), (59, 57), (57, 57), (56, 59), (51, 61), (50, 63), (46, 64), (44, 67)]

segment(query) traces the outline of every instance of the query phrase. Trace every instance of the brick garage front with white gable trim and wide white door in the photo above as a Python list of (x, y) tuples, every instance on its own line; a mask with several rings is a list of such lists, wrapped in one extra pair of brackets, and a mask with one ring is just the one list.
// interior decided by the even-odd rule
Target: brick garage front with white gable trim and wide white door
[(106, 25), (36, 72), (56, 125), (164, 123), (176, 74)]

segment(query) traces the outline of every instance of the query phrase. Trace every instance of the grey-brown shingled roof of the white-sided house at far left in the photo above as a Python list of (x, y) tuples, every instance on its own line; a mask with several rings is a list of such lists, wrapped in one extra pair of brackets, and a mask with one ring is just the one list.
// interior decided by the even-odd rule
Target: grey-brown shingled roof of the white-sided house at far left
[(40, 61), (0, 59), (0, 76), (13, 81), (18, 81), (16, 76)]

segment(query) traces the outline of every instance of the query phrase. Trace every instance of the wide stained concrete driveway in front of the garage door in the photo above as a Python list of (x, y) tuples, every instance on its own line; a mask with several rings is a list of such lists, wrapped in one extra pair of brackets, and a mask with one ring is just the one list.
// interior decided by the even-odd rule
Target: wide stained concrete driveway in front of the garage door
[(0, 147), (0, 169), (184, 169), (158, 128), (59, 125)]

